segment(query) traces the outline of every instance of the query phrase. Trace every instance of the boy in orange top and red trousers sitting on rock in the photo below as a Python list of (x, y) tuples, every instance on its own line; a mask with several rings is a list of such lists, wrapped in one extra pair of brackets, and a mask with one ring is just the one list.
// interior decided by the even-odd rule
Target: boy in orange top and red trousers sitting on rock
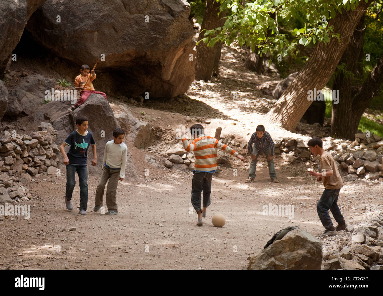
[(108, 100), (104, 92), (98, 92), (93, 87), (92, 81), (96, 79), (96, 73), (94, 70), (92, 70), (89, 74), (89, 70), (90, 69), (88, 65), (82, 65), (80, 69), (81, 74), (74, 79), (74, 86), (76, 89), (80, 90), (81, 97), (76, 102), (76, 104), (69, 107), (69, 111), (73, 111), (80, 105), (84, 104), (90, 94), (100, 94), (106, 100)]

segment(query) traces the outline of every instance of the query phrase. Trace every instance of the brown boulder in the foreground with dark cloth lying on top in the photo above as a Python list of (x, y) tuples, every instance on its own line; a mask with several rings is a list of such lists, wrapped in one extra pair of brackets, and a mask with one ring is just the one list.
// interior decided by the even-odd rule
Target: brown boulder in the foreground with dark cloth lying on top
[(312, 234), (294, 229), (250, 258), (247, 269), (321, 269), (322, 243)]

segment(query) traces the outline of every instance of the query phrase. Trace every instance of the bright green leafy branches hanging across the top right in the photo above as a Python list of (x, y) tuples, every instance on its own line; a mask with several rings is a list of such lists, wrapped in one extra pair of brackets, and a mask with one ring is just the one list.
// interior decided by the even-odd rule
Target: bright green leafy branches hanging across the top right
[[(257, 46), (261, 56), (273, 49), (282, 57), (298, 54), (297, 44), (327, 43), (331, 37), (339, 40), (340, 36), (333, 33), (329, 20), (337, 12), (342, 14), (344, 10), (354, 10), (358, 5), (358, 0), (255, 0), (243, 5), (242, 0), (216, 1), (221, 3), (219, 14), (227, 11), (226, 21), (223, 27), (205, 30), (200, 41), (208, 46), (214, 46), (217, 41), (227, 46), (233, 42), (239, 46), (246, 44), (251, 46), (253, 52)], [(304, 21), (296, 22), (302, 15)], [(291, 32), (282, 33), (284, 30), (278, 23), (301, 25)]]

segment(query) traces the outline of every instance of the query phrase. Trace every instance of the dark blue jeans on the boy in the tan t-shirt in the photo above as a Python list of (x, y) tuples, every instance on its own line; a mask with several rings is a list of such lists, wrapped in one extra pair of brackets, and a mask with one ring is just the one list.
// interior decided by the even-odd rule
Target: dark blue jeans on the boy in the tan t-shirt
[(338, 222), (343, 222), (344, 218), (340, 213), (337, 201), (339, 197), (340, 189), (324, 189), (321, 199), (316, 204), (316, 210), (318, 212), (319, 219), (321, 219), (324, 228), (329, 229), (334, 227), (332, 224), (329, 210), (331, 210), (332, 216)]

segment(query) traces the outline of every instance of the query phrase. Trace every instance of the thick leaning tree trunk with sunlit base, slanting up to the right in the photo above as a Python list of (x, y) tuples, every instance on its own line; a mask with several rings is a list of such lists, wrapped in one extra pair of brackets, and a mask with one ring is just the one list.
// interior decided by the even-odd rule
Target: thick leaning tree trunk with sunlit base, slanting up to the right
[(297, 123), (312, 103), (308, 100), (308, 90), (314, 91), (314, 88), (317, 91), (321, 90), (329, 81), (349, 44), (355, 26), (371, 2), (372, 0), (368, 0), (367, 3), (360, 0), (355, 10), (349, 12), (343, 10), (342, 14), (338, 12), (330, 21), (329, 25), (334, 26), (334, 33), (340, 34), (340, 41), (333, 37), (326, 44), (321, 42), (316, 45), (303, 69), (267, 113), (270, 121), (282, 125), (286, 130), (295, 130)]

